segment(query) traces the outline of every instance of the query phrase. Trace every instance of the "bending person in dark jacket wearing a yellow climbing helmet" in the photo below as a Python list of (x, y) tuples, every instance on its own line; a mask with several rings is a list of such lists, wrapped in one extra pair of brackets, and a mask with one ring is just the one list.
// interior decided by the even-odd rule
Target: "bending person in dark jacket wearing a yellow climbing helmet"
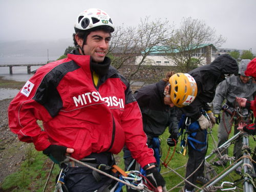
[[(173, 81), (170, 79), (173, 79)], [(175, 89), (173, 89), (177, 87), (174, 81), (178, 82), (177, 84), (180, 89), (177, 90), (179, 90), (179, 92), (175, 92)], [(185, 81), (187, 83), (185, 83)], [(185, 87), (187, 87), (186, 93), (183, 90)], [(193, 87), (193, 89), (191, 89), (191, 87)], [(182, 107), (190, 104), (190, 102), (195, 99), (196, 90), (196, 82), (195, 80), (193, 81), (193, 77), (190, 75), (181, 73), (174, 75), (174, 72), (168, 72), (166, 77), (159, 82), (142, 87), (134, 93), (134, 97), (142, 113), (143, 130), (147, 135), (147, 145), (155, 151), (159, 171), (159, 136), (162, 135), (168, 127), (170, 136), (167, 139), (167, 144), (174, 146), (178, 142), (177, 106)], [(173, 95), (173, 93), (177, 95), (177, 98), (182, 97), (182, 99), (173, 98), (172, 100), (170, 95)], [(131, 156), (130, 151), (128, 151), (126, 147), (123, 148), (123, 151), (125, 170), (137, 170), (136, 161)], [(127, 187), (127, 191), (135, 190)]]

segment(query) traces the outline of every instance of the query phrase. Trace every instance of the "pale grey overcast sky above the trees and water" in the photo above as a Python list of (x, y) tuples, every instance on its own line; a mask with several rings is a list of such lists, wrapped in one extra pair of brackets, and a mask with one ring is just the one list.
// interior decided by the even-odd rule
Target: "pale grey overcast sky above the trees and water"
[(107, 12), (116, 26), (138, 25), (140, 18), (204, 20), (227, 41), (222, 48), (256, 53), (256, 0), (0, 0), (0, 41), (72, 38), (78, 13)]

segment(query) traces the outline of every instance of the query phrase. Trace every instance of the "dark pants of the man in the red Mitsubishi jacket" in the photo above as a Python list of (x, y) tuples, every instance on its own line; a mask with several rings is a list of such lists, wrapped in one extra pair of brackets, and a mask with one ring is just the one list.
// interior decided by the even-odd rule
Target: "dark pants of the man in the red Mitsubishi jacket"
[[(111, 153), (91, 154), (86, 158), (95, 158), (95, 164), (105, 164), (112, 166), (115, 163), (114, 157)], [(93, 170), (88, 167), (68, 167), (66, 174), (66, 186), (69, 192), (93, 192), (99, 190), (101, 187), (108, 187), (113, 185), (112, 179), (102, 174), (99, 174), (100, 180), (96, 180), (92, 174)], [(108, 172), (106, 172), (108, 173)], [(109, 174), (111, 174), (109, 170)], [(99, 178), (98, 178), (99, 179)], [(102, 188), (101, 188), (102, 189)]]

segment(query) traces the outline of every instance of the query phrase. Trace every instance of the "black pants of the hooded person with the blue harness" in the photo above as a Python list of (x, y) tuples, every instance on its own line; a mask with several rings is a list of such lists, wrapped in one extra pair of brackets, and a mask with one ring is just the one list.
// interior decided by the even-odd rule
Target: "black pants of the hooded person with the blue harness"
[[(194, 139), (204, 142), (206, 134), (207, 133), (205, 131), (200, 130), (197, 132), (197, 135), (194, 137)], [(196, 142), (193, 142), (193, 144), (197, 149), (200, 149), (205, 146), (205, 144), (199, 144)], [(199, 165), (203, 162), (202, 165), (198, 168), (198, 170), (187, 179), (189, 182), (196, 184), (197, 177), (204, 176), (204, 158), (207, 152), (207, 148), (205, 147), (204, 150), (197, 151), (189, 144), (189, 142), (187, 143), (187, 145), (188, 145), (188, 161), (186, 165), (185, 178), (187, 178), (191, 173), (193, 173), (199, 167)], [(187, 190), (193, 190), (194, 186), (185, 182), (185, 188)]]

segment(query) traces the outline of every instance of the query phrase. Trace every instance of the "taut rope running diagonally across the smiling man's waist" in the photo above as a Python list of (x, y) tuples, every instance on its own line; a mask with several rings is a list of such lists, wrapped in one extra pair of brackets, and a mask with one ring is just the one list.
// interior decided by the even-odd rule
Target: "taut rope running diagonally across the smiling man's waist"
[(70, 156), (66, 156), (66, 157), (67, 157), (68, 159), (72, 160), (72, 161), (75, 161), (75, 162), (77, 162), (77, 163), (80, 163), (81, 165), (84, 165), (84, 166), (86, 166), (86, 167), (88, 167), (88, 168), (91, 168), (91, 169), (95, 170), (96, 172), (98, 172), (98, 173), (100, 173), (100, 174), (102, 174), (102, 175), (104, 175), (104, 176), (110, 177), (111, 179), (114, 179), (114, 180), (116, 180), (116, 181), (118, 181), (118, 182), (120, 182), (120, 183), (123, 183), (123, 184), (127, 185), (127, 186), (133, 187), (133, 188), (138, 189), (138, 190), (146, 190), (146, 191), (148, 191), (148, 192), (152, 192), (151, 190), (145, 188), (145, 187), (142, 186), (142, 185), (135, 186), (135, 185), (133, 185), (133, 184), (131, 184), (131, 183), (125, 182), (125, 181), (123, 181), (123, 180), (121, 180), (121, 179), (118, 179), (118, 178), (116, 178), (116, 177), (114, 177), (114, 176), (112, 176), (112, 175), (110, 175), (110, 174), (107, 174), (107, 173), (103, 172), (102, 170), (99, 170), (99, 169), (97, 169), (97, 168), (95, 168), (95, 167), (93, 167), (93, 166), (91, 166), (91, 165), (88, 165), (88, 164), (83, 163), (83, 162), (81, 162), (81, 161), (79, 161), (79, 160), (77, 160), (77, 159), (74, 159), (73, 157), (70, 157)]

